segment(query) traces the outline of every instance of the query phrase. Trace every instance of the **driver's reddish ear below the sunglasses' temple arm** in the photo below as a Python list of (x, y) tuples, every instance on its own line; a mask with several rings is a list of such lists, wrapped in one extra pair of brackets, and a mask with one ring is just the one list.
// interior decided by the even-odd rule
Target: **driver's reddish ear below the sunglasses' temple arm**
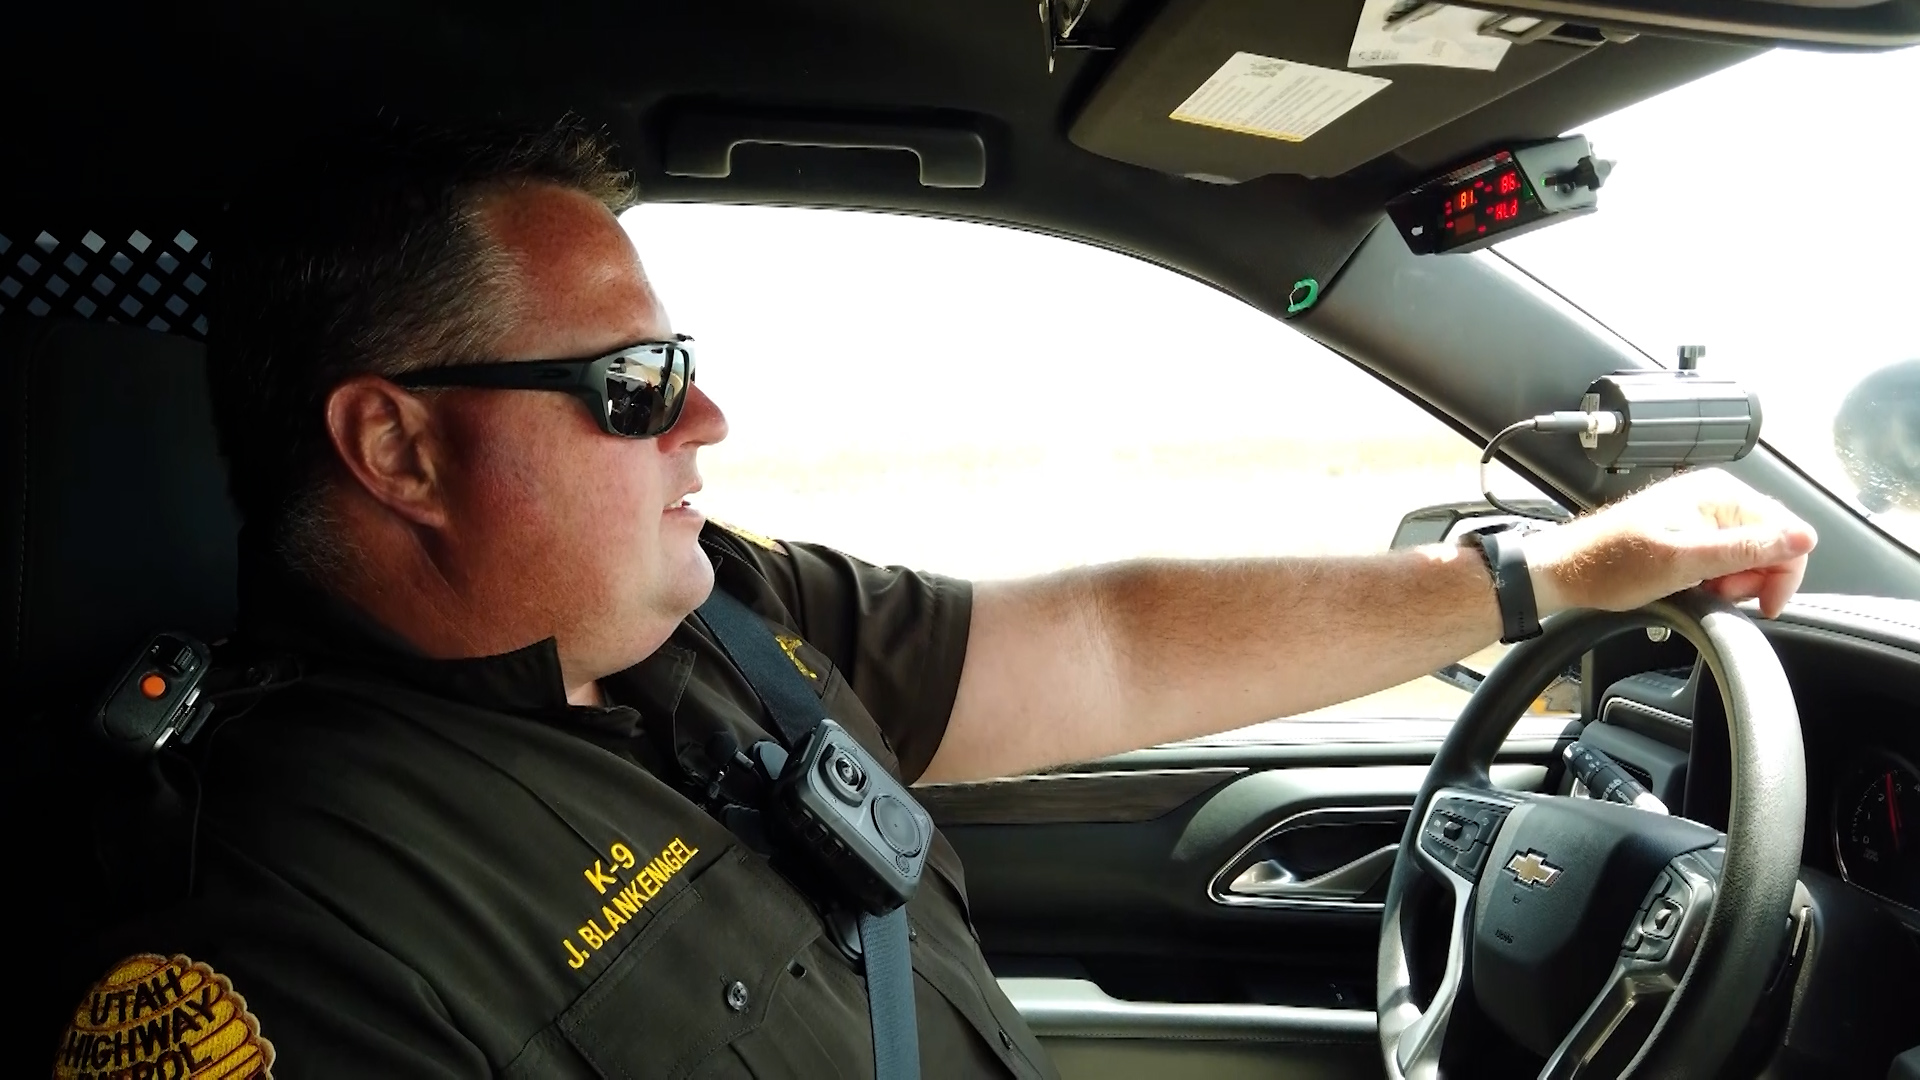
[(447, 523), (434, 413), (378, 375), (355, 375), (326, 394), (326, 436), (359, 486), (403, 519)]

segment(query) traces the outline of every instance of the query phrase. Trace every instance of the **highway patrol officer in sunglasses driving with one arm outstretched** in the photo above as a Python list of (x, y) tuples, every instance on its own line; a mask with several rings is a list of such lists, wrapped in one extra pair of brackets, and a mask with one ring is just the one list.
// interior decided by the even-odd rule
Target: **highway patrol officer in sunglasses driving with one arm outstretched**
[[(689, 617), (714, 588), (906, 782), (1290, 715), (1501, 634), (1453, 548), (973, 586), (718, 528), (687, 498), (726, 419), (599, 142), (317, 161), (236, 209), (209, 357), (238, 648), (278, 676), (194, 742), (192, 884), (79, 959), (58, 1076), (870, 1076), (820, 899), (710, 813), (770, 728)], [(1699, 580), (1774, 613), (1812, 542), (1703, 473), (1526, 555), (1540, 613)], [(906, 913), (924, 1072), (1052, 1076), (939, 836)]]

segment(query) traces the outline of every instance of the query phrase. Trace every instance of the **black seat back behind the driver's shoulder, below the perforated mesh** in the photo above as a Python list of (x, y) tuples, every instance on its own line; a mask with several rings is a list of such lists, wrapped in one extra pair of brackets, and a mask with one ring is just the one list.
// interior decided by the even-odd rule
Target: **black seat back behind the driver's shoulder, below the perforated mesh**
[(180, 336), (0, 315), (0, 671), (15, 736), (4, 784), (17, 815), (8, 880), (27, 907), (10, 938), (40, 988), (27, 1003), (35, 1040), (63, 1020), (40, 972), (142, 903), (104, 896), (86, 811), (117, 773), (79, 721), (154, 630), (211, 642), (230, 628), (238, 517), (204, 346)]

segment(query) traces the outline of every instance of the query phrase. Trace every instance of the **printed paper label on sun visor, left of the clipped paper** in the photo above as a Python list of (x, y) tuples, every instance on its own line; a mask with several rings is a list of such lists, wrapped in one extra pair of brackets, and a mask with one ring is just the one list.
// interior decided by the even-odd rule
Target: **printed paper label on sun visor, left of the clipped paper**
[(1388, 85), (1373, 75), (1236, 52), (1169, 119), (1304, 142)]

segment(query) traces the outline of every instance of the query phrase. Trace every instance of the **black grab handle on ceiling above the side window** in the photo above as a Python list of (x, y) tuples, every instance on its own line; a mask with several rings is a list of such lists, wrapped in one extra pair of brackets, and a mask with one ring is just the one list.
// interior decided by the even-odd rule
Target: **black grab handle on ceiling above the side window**
[(904, 150), (920, 160), (927, 188), (977, 188), (987, 183), (987, 144), (964, 127), (887, 121), (808, 119), (749, 111), (689, 110), (668, 121), (662, 146), (670, 177), (724, 179), (733, 148), (824, 146), (829, 150)]

